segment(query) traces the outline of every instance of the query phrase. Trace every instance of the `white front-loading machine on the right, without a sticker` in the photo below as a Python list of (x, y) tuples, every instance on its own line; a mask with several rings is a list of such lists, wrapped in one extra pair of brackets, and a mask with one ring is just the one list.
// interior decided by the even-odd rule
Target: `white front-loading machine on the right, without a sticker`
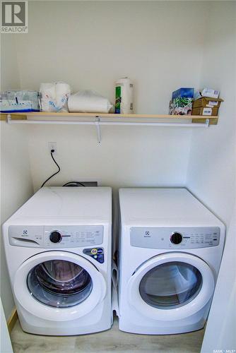
[(225, 226), (187, 189), (120, 189), (119, 329), (165, 335), (203, 328)]

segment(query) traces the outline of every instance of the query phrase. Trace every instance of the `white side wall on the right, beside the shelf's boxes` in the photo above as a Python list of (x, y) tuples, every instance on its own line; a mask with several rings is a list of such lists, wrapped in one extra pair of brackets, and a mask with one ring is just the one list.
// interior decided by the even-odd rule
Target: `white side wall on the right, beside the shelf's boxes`
[(201, 87), (220, 90), (225, 102), (217, 126), (194, 131), (187, 186), (229, 225), (235, 201), (236, 3), (216, 1), (209, 12)]

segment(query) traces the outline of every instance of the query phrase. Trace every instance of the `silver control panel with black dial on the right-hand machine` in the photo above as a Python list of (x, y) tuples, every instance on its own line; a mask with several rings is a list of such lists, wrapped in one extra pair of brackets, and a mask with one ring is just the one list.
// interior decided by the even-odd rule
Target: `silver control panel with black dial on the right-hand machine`
[(220, 227), (131, 227), (130, 244), (148, 249), (196, 249), (217, 246)]

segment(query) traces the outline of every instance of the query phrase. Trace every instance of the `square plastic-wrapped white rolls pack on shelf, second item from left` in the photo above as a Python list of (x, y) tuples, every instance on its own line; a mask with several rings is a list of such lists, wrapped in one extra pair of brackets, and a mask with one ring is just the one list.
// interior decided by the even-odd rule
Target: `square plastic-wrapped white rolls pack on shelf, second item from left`
[(41, 83), (40, 110), (42, 112), (68, 112), (71, 88), (67, 83)]

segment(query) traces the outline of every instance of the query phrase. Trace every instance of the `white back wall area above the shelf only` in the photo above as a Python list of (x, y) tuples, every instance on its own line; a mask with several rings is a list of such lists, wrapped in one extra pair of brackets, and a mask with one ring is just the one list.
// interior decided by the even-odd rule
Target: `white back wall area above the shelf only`
[(136, 112), (164, 114), (172, 90), (199, 84), (205, 10), (197, 1), (29, 1), (21, 88), (65, 80), (113, 102), (115, 80), (129, 76)]

